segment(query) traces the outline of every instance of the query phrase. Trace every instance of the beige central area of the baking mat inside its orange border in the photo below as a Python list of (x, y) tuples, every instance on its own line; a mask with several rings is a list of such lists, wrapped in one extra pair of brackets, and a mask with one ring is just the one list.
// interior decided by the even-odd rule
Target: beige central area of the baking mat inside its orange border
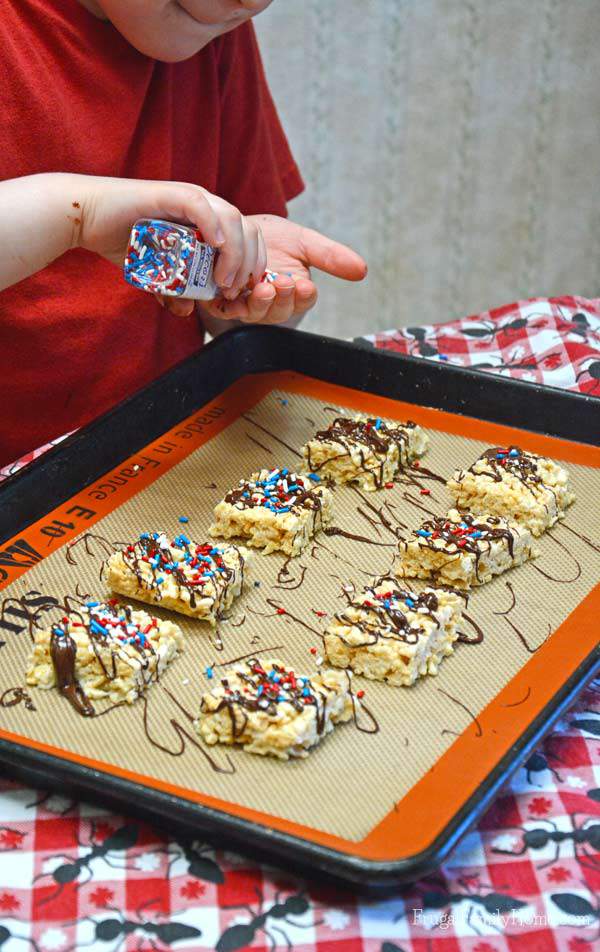
[[(37, 611), (40, 623), (46, 625), (62, 614), (60, 604), (46, 610), (40, 599), (49, 605), (50, 599), (64, 604), (65, 596), (105, 595), (99, 567), (107, 545), (127, 542), (144, 530), (175, 535), (182, 528), (180, 515), (190, 519), (185, 526), (188, 535), (204, 541), (213, 506), (239, 478), (261, 466), (299, 462), (302, 443), (340, 410), (344, 411), (342, 404), (273, 390), (96, 522), (79, 541), (61, 546), (5, 588), (4, 627), (0, 627), (5, 640), (0, 696), (5, 704), (13, 700), (11, 689), (24, 683), (32, 616)], [(441, 476), (470, 464), (494, 442), (442, 430), (429, 432), (431, 446), (422, 464)], [(521, 445), (527, 447), (526, 438)], [(163, 453), (169, 455), (168, 439)], [(357, 843), (432, 769), (465, 728), (475, 725), (477, 731), (486, 705), (597, 584), (600, 476), (585, 465), (569, 463), (568, 468), (577, 502), (565, 523), (540, 540), (540, 558), (501, 576), (471, 598), (467, 614), (474, 624), (467, 622), (462, 631), (475, 642), (481, 631), (483, 640), (460, 644), (436, 678), (410, 689), (361, 679), (377, 733), (371, 732), (373, 720), (364, 713), (356, 724), (336, 729), (307, 760), (279, 763), (237, 750), (208, 749), (199, 739), (194, 743), (190, 719), (197, 713), (201, 691), (210, 687), (204, 674), (208, 666), (226, 667), (241, 655), (256, 654), (279, 657), (296, 671), (310, 673), (314, 665), (310, 648), (319, 646), (319, 633), (327, 623), (315, 611), (331, 617), (344, 605), (343, 585), (360, 587), (371, 575), (389, 569), (397, 526), (415, 526), (426, 516), (423, 508), (438, 513), (448, 507), (444, 486), (424, 478), (423, 469), (392, 490), (375, 494), (348, 487), (336, 490), (335, 526), (368, 541), (321, 535), (286, 569), (283, 556), (257, 553), (249, 587), (217, 635), (206, 625), (178, 616), (187, 639), (185, 653), (152, 687), (146, 702), (85, 720), (57, 692), (29, 689), (35, 711), (25, 703), (2, 705), (0, 724), (36, 743)], [(422, 495), (422, 487), (430, 489), (430, 495)], [(285, 614), (279, 614), (278, 607)], [(160, 610), (156, 613), (167, 617)], [(103, 709), (101, 703), (96, 707), (99, 712)]]

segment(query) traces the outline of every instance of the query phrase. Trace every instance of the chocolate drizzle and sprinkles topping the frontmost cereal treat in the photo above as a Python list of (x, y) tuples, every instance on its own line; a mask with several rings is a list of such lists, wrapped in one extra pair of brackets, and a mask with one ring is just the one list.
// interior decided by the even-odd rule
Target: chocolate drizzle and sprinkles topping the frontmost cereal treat
[[(227, 678), (221, 678), (225, 695), (211, 713), (227, 710), (231, 720), (231, 733), (234, 738), (241, 737), (248, 723), (247, 711), (264, 711), (271, 717), (277, 714), (277, 705), (291, 704), (301, 713), (306, 707), (315, 708), (317, 734), (325, 730), (327, 698), (325, 692), (313, 688), (310, 678), (295, 675), (281, 665), (273, 664), (267, 671), (260, 661), (252, 658), (244, 665), (246, 670), (236, 670), (244, 688), (231, 687)], [(204, 699), (200, 705), (205, 711)]]

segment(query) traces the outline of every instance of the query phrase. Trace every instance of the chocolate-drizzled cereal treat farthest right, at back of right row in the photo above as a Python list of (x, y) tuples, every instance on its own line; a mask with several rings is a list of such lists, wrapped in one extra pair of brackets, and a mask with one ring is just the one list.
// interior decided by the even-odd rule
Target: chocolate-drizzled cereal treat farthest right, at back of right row
[(565, 514), (575, 495), (566, 469), (517, 446), (495, 446), (447, 483), (456, 508), (504, 516), (540, 536)]

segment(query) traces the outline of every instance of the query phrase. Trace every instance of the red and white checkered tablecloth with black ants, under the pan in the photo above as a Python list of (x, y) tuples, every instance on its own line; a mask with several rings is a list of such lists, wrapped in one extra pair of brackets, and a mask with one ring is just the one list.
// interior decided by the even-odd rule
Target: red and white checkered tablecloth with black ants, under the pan
[[(598, 387), (600, 394), (600, 301), (536, 299), (371, 341), (551, 386)], [(27, 947), (600, 948), (600, 682), (444, 868), (385, 900), (328, 889), (201, 842), (166, 839), (134, 817), (0, 779), (0, 950)]]

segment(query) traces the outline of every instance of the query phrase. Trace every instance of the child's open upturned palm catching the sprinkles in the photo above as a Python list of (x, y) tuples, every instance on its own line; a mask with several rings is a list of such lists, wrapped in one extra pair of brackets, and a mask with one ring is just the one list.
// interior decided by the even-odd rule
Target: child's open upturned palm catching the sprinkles
[(362, 281), (367, 273), (360, 255), (317, 231), (277, 215), (251, 215), (249, 220), (260, 226), (267, 267), (278, 277), (272, 284), (257, 284), (251, 294), (236, 300), (203, 301), (202, 311), (211, 317), (249, 324), (283, 324), (314, 307), (317, 288), (310, 279), (311, 268), (346, 281)]

